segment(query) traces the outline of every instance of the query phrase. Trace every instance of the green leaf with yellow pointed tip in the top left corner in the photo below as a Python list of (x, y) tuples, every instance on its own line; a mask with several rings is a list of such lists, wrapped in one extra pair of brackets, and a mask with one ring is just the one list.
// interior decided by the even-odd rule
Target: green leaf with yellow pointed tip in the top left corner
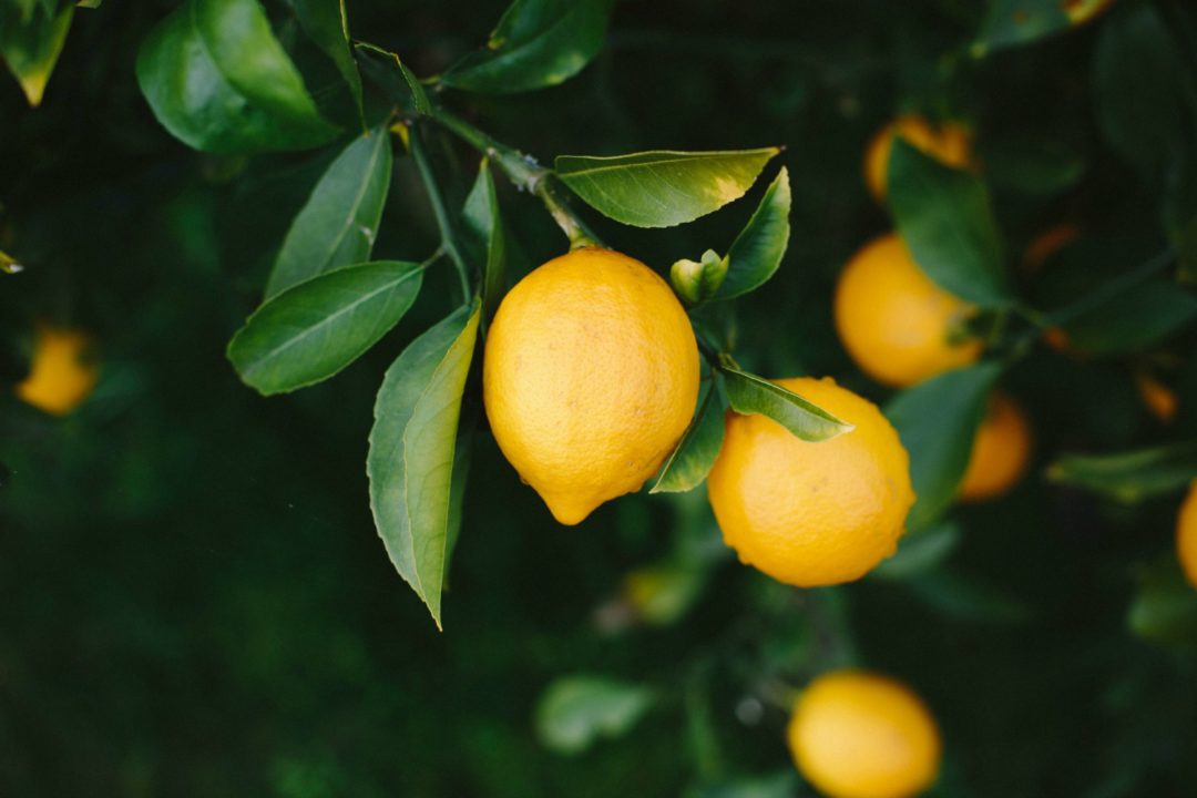
[(71, 4), (57, 12), (36, 6), (23, 16), (14, 5), (0, 2), (0, 59), (17, 78), (32, 108), (42, 104), (45, 84), (62, 53), (73, 16)]

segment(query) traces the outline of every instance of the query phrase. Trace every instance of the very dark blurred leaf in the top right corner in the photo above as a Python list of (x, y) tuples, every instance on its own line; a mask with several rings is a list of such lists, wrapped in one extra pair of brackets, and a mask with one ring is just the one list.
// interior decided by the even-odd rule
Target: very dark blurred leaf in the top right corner
[(1093, 102), (1110, 146), (1141, 172), (1163, 177), (1189, 144), (1197, 110), (1192, 73), (1153, 4), (1129, 4), (1102, 25)]

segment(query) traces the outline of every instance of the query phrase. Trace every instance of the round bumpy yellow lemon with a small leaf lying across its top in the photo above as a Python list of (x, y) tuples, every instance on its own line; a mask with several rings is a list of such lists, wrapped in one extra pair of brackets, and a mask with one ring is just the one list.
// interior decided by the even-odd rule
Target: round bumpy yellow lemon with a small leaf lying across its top
[(790, 585), (858, 579), (905, 531), (910, 458), (877, 406), (836, 380), (776, 382), (855, 428), (807, 443), (762, 415), (729, 413), (707, 477), (723, 540), (742, 562)]

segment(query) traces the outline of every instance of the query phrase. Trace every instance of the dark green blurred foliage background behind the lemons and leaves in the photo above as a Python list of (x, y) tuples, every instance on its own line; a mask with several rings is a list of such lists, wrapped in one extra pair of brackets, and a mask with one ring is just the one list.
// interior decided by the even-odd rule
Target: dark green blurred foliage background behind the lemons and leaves
[[(484, 435), (437, 633), (373, 531), (363, 458), (381, 374), (445, 312), (451, 275), (431, 273), (408, 318), (338, 380), (269, 400), (244, 388), (225, 345), (330, 152), (243, 159), (171, 139), (133, 71), (171, 7), (78, 12), (36, 110), (0, 81), (0, 249), (26, 267), (0, 275), (4, 382), (26, 370), (40, 319), (90, 330), (102, 363), (62, 420), (0, 396), (0, 792), (813, 794), (784, 748), (788, 690), (858, 663), (932, 707), (946, 739), (934, 794), (1192, 794), (1193, 650), (1126, 623), (1169, 556), (1178, 497), (1126, 507), (1041, 477), (1059, 452), (1197, 433), (1191, 325), (1152, 354), (1037, 348), (1007, 385), (1032, 418), (1035, 470), (956, 511), (958, 548), (910, 579), (784, 589), (723, 550), (703, 491), (628, 497), (560, 528)], [(433, 74), (503, 7), (353, 0), (348, 13), (354, 37)], [(1101, 122), (1157, 85), (1125, 75), (1111, 99), (1095, 83), (1102, 32), (1140, 7), (1163, 14), (1197, 80), (1197, 20), (1169, 0), (1118, 2), (984, 60), (965, 49), (984, 14), (968, 0), (630, 0), (575, 80), (446, 102), (545, 160), (785, 145), (794, 236), (770, 288), (740, 303), (737, 358), (880, 401), (834, 336), (831, 297), (889, 226), (861, 157), (895, 114), (974, 127), (1013, 252), (1061, 221), (1150, 252), (1197, 209), (1186, 166), (1126, 159)], [(1197, 118), (1135, 108), (1147, 139), (1167, 142), (1171, 124), (1193, 136)], [(463, 196), (474, 157), (436, 154)], [(760, 190), (666, 231), (591, 218), (666, 269), (725, 245)], [(505, 184), (500, 199), (523, 268), (564, 250), (533, 199)], [(400, 158), (377, 257), (419, 260), (436, 242)], [(1094, 263), (1074, 285), (1137, 262)], [(1172, 426), (1140, 401), (1144, 364), (1179, 396)], [(646, 686), (644, 718), (621, 739), (551, 750), (537, 701), (569, 674)]]

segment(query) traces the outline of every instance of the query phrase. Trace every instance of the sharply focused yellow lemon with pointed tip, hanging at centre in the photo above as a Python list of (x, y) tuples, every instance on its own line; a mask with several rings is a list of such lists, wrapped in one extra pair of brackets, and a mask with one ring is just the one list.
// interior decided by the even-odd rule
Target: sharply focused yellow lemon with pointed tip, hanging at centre
[(689, 318), (652, 269), (604, 249), (554, 258), (511, 290), (486, 340), (499, 449), (563, 524), (638, 489), (698, 401)]

